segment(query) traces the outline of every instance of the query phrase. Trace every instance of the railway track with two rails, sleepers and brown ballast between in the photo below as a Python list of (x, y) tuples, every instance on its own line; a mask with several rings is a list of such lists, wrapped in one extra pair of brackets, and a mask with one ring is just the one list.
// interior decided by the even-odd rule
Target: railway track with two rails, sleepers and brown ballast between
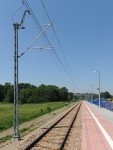
[(77, 103), (24, 150), (63, 150), (80, 107), (81, 103)]

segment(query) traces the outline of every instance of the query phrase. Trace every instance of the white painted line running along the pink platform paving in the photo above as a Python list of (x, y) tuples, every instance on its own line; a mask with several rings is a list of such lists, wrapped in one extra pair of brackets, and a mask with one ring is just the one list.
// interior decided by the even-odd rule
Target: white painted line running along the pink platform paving
[[(85, 103), (86, 104), (86, 103)], [(90, 110), (90, 108), (88, 107), (88, 105), (86, 104), (86, 107), (88, 108), (89, 112), (91, 113), (92, 117), (94, 118), (95, 122), (97, 123), (98, 127), (100, 128), (101, 132), (103, 133), (106, 141), (108, 142), (108, 144), (110, 145), (110, 147), (113, 150), (113, 140), (111, 139), (111, 137), (108, 135), (108, 133), (106, 132), (106, 130), (103, 128), (103, 126), (101, 125), (101, 123), (98, 121), (98, 119), (95, 117), (95, 115), (92, 113), (92, 111)]]

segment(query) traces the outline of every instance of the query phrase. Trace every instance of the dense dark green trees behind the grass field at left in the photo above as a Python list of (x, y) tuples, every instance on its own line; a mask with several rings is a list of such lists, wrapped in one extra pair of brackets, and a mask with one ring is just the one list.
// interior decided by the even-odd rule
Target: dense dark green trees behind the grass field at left
[[(39, 103), (49, 101), (70, 101), (73, 93), (66, 87), (59, 88), (55, 85), (40, 85), (36, 87), (29, 83), (19, 85), (19, 103)], [(14, 102), (14, 86), (11, 83), (0, 84), (0, 102)]]

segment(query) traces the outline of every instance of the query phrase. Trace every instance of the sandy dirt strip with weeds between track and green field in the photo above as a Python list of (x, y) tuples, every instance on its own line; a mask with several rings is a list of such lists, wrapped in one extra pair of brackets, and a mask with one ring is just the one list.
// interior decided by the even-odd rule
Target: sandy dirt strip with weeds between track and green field
[[(0, 150), (22, 150), (23, 145), (28, 144), (31, 141), (31, 139), (34, 139), (34, 137), (36, 137), (37, 135), (40, 135), (42, 133), (42, 129), (45, 126), (47, 127), (50, 124), (52, 124), (59, 116), (62, 116), (66, 111), (68, 111), (71, 106), (73, 106), (73, 103), (71, 103), (69, 106), (55, 110), (51, 113), (48, 113), (30, 122), (26, 122), (20, 125), (19, 126), (20, 130), (24, 128), (28, 129), (28, 131), (25, 131), (23, 133), (23, 135), (25, 136), (22, 137), (21, 135), (22, 138), (20, 141), (14, 141), (13, 139), (11, 139), (6, 142), (0, 143)], [(11, 135), (12, 133), (13, 133), (13, 128), (8, 129), (0, 133), (0, 138), (6, 135)]]

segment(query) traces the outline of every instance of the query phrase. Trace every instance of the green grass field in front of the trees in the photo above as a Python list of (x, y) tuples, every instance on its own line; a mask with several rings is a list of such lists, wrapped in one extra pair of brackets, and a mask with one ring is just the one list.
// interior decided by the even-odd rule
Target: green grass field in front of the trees
[[(19, 124), (65, 106), (65, 102), (19, 105)], [(13, 126), (13, 104), (0, 103), (0, 131)]]

